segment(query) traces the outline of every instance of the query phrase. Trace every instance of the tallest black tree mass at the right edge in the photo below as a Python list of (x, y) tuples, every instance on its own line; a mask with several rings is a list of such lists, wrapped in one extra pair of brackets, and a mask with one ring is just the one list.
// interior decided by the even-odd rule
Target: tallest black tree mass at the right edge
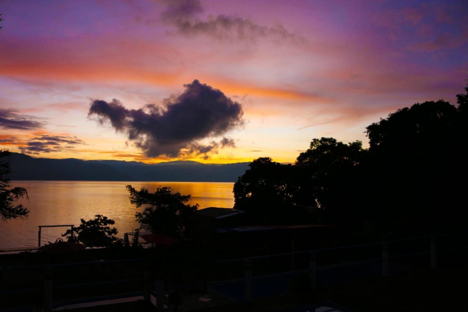
[(389, 230), (463, 227), (466, 96), (458, 103), (417, 103), (366, 128), (368, 205), (379, 207), (369, 211), (374, 220), (391, 223)]

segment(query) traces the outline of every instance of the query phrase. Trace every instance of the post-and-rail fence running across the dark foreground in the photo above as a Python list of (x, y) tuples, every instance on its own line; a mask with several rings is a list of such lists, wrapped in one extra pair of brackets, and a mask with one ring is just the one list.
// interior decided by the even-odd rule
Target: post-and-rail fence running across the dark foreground
[[(312, 249), (306, 251), (297, 251), (291, 253), (276, 253), (276, 254), (269, 254), (269, 255), (261, 255), (255, 257), (245, 257), (245, 258), (237, 258), (237, 259), (229, 259), (229, 260), (218, 260), (213, 261), (212, 264), (227, 264), (227, 263), (235, 263), (235, 262), (242, 262), (243, 265), (243, 277), (239, 279), (230, 279), (224, 281), (215, 281), (215, 282), (203, 282), (197, 284), (190, 284), (190, 285), (177, 285), (172, 287), (172, 290), (181, 290), (185, 288), (194, 288), (199, 286), (219, 286), (224, 284), (232, 284), (232, 283), (240, 283), (243, 282), (244, 287), (244, 300), (251, 300), (252, 299), (252, 282), (256, 279), (261, 278), (270, 278), (275, 276), (282, 276), (282, 275), (296, 275), (300, 273), (307, 273), (310, 286), (312, 289), (317, 287), (317, 272), (342, 268), (342, 267), (351, 267), (366, 263), (376, 263), (377, 261), (381, 261), (381, 275), (388, 276), (390, 274), (390, 260), (397, 259), (397, 258), (404, 258), (410, 256), (422, 256), (422, 255), (430, 255), (430, 266), (435, 268), (438, 266), (438, 253), (448, 252), (448, 251), (457, 251), (468, 249), (468, 246), (457, 246), (454, 248), (446, 248), (446, 249), (437, 249), (437, 238), (446, 237), (446, 236), (456, 236), (456, 235), (466, 235), (468, 233), (450, 233), (450, 234), (442, 234), (442, 235), (432, 235), (432, 236), (420, 236), (420, 237), (412, 237), (412, 238), (402, 238), (402, 239), (395, 239), (395, 240), (388, 240), (384, 242), (376, 242), (376, 243), (366, 243), (366, 244), (358, 244), (358, 245), (346, 245), (346, 246), (338, 246), (338, 247), (329, 247), (329, 248), (319, 248), (319, 249)], [(396, 254), (390, 255), (389, 254), (389, 244), (410, 241), (410, 240), (417, 240), (417, 239), (428, 239), (430, 238), (430, 244), (427, 245), (428, 251), (423, 252), (416, 252), (416, 253), (403, 253), (403, 254)], [(330, 264), (326, 266), (317, 266), (317, 257), (318, 253), (328, 252), (328, 251), (337, 251), (337, 250), (345, 250), (345, 249), (353, 249), (353, 248), (360, 248), (360, 247), (368, 247), (368, 246), (378, 246), (381, 245), (381, 257), (374, 257), (371, 259), (365, 260), (358, 260), (358, 261), (348, 261), (343, 263), (336, 263)], [(309, 255), (309, 263), (308, 267), (305, 269), (300, 270), (289, 270), (285, 272), (278, 272), (274, 274), (267, 274), (267, 275), (260, 275), (260, 276), (253, 276), (252, 275), (252, 261), (254, 260), (263, 260), (263, 259), (271, 259), (277, 257), (284, 257), (284, 256), (294, 256), (299, 254), (308, 254)], [(106, 260), (106, 261), (88, 261), (88, 262), (73, 262), (73, 263), (60, 263), (60, 264), (49, 264), (49, 265), (38, 265), (38, 266), (29, 266), (29, 267), (2, 267), (0, 268), (0, 274), (8, 271), (15, 271), (15, 270), (44, 270), (44, 287), (35, 287), (35, 288), (28, 288), (28, 289), (20, 289), (20, 290), (1, 290), (0, 296), (2, 295), (11, 295), (15, 293), (23, 293), (23, 292), (32, 292), (32, 291), (40, 291), (44, 290), (44, 311), (51, 312), (54, 307), (59, 307), (63, 305), (63, 303), (55, 303), (53, 302), (53, 293), (54, 289), (70, 289), (76, 287), (87, 287), (92, 285), (104, 285), (110, 283), (128, 283), (128, 282), (142, 282), (143, 285), (141, 287), (141, 293), (146, 301), (150, 301), (151, 295), (156, 297), (156, 307), (158, 311), (162, 311), (164, 305), (164, 282), (162, 280), (157, 280), (155, 283), (151, 280), (151, 274), (145, 268), (143, 272), (143, 276), (141, 277), (134, 277), (134, 278), (124, 278), (124, 279), (117, 279), (112, 281), (100, 281), (100, 282), (88, 282), (88, 283), (72, 283), (72, 284), (65, 284), (65, 285), (53, 285), (52, 280), (52, 269), (54, 267), (71, 267), (71, 266), (84, 266), (84, 265), (95, 265), (95, 264), (109, 264), (109, 263), (124, 263), (124, 262), (138, 262), (144, 261), (143, 258), (138, 259), (123, 259), (123, 260)], [(429, 259), (428, 259), (429, 260)], [(155, 290), (155, 292), (153, 291)], [(135, 295), (129, 294), (130, 295)], [(121, 295), (123, 296), (123, 295)], [(110, 296), (105, 297), (97, 297), (93, 298), (93, 300), (104, 300), (109, 298)], [(158, 300), (159, 299), (159, 300)], [(1, 304), (1, 301), (0, 301)], [(1, 306), (0, 306), (1, 309)], [(2, 310), (3, 311), (3, 310)]]

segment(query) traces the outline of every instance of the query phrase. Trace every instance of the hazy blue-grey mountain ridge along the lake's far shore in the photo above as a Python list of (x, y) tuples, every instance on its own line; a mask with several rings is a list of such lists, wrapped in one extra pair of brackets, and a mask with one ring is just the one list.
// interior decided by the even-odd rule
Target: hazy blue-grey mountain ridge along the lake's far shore
[(12, 153), (12, 180), (234, 182), (249, 163), (174, 161), (147, 164), (114, 160), (33, 158)]

